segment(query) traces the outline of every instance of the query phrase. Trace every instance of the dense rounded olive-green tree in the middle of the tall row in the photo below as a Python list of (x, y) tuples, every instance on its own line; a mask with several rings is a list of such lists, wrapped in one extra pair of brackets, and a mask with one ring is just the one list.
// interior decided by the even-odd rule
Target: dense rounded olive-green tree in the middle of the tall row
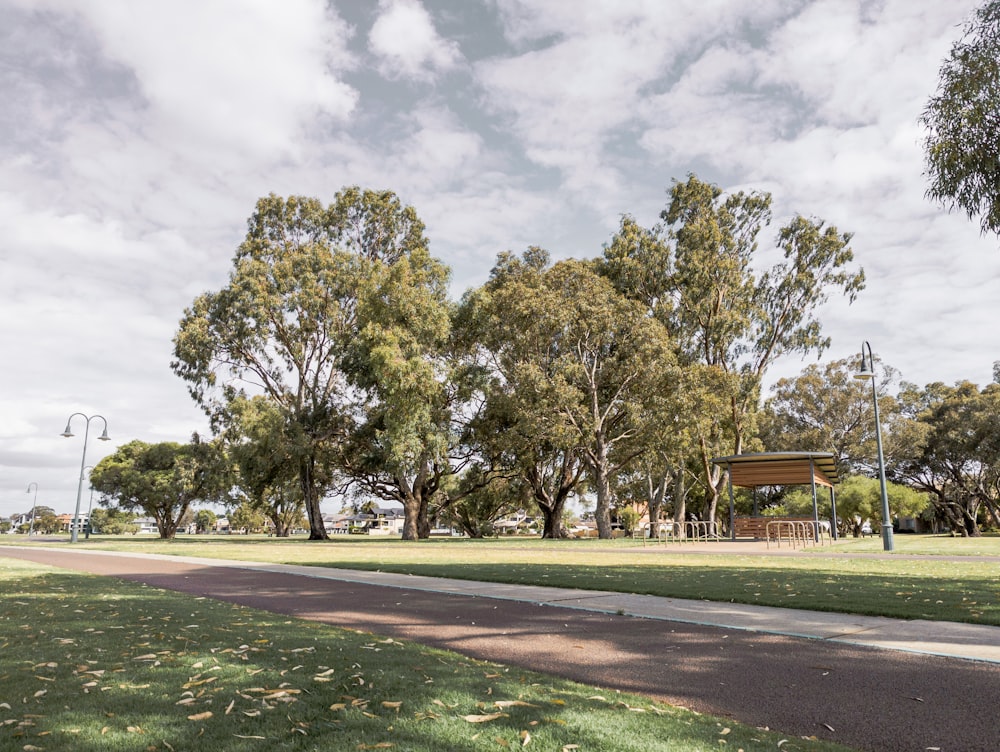
[(666, 329), (593, 264), (549, 267), (537, 248), (502, 254), (464, 305), (489, 373), (485, 451), (530, 487), (546, 537), (561, 536), (562, 506), (586, 467), (610, 537), (611, 478), (642, 453), (653, 402), (672, 388)]

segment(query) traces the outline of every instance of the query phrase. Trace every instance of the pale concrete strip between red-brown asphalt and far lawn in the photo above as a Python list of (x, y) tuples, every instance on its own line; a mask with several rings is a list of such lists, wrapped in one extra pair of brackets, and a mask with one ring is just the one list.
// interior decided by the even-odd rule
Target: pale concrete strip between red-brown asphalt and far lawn
[(951, 658), (1000, 663), (1000, 627), (889, 619), (820, 611), (662, 598), (597, 590), (569, 590), (543, 585), (511, 585), (456, 580), (393, 572), (331, 569), (296, 564), (233, 561), (164, 554), (126, 554), (107, 551), (74, 551), (87, 555), (119, 555), (163, 561), (184, 561), (210, 567), (233, 567), (301, 577), (357, 582), (406, 590), (420, 590), (478, 598), (523, 601), (580, 611), (614, 613), (644, 619), (674, 621), (699, 626), (726, 627), (787, 637), (863, 645)]

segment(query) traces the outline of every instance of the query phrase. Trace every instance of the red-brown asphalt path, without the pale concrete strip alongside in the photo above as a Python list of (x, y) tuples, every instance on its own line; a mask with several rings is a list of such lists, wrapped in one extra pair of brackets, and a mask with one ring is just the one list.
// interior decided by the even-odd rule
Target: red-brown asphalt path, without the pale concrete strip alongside
[(406, 638), (859, 750), (1000, 750), (996, 663), (232, 565), (54, 548), (0, 555)]

